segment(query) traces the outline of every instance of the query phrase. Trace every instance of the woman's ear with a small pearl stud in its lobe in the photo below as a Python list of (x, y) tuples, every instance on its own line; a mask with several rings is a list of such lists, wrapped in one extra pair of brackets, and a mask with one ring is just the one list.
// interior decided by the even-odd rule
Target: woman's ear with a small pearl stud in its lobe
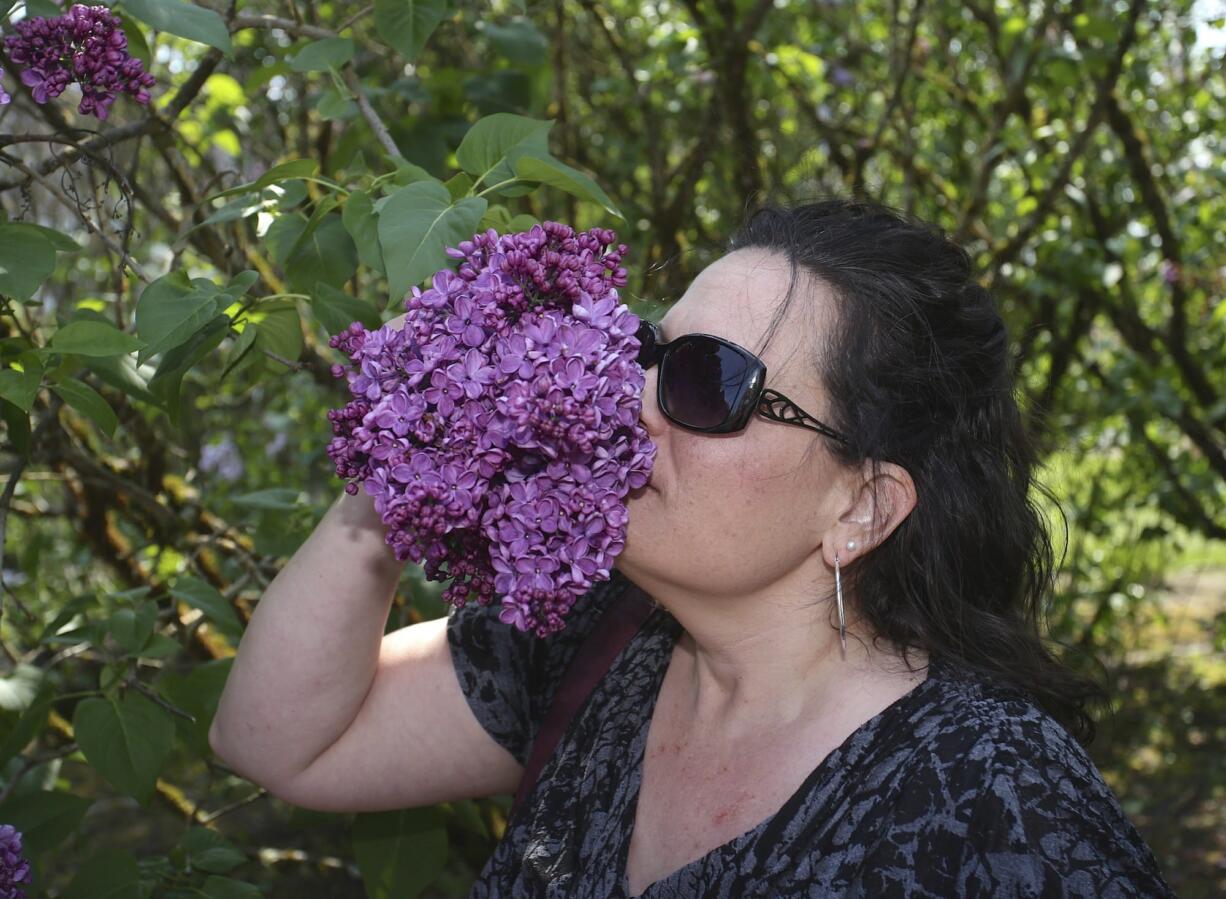
[[(851, 502), (821, 540), (821, 554), (831, 568), (835, 553), (847, 564), (870, 552), (889, 537), (916, 508), (916, 486), (911, 473), (894, 462), (866, 460), (852, 484)], [(847, 543), (855, 542), (855, 548)]]

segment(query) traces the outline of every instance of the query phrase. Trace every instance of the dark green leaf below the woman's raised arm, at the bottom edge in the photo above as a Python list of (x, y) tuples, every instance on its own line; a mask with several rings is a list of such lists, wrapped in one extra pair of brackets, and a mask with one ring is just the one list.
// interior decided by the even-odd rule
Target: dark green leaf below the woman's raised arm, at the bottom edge
[(436, 808), (358, 814), (353, 854), (370, 899), (413, 899), (446, 862), (443, 816)]

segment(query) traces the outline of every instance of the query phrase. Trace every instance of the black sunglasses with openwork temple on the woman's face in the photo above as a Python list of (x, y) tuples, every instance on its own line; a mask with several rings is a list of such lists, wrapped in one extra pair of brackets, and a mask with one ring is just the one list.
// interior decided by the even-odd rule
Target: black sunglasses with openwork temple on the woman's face
[(766, 364), (744, 347), (710, 334), (683, 334), (663, 341), (660, 326), (639, 326), (639, 364), (660, 365), (656, 401), (673, 423), (704, 434), (743, 429), (756, 412), (764, 418), (847, 438), (823, 424), (776, 390), (765, 388)]

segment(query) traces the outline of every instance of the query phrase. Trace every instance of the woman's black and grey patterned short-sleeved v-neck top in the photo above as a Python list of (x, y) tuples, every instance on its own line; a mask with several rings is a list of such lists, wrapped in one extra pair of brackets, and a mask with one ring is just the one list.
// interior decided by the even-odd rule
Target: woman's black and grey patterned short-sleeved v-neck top
[[(452, 611), (468, 705), (520, 763), (614, 572), (537, 638), (498, 603)], [(683, 633), (657, 606), (575, 714), (471, 899), (631, 899), (625, 862), (652, 710)], [(679, 809), (678, 813), (684, 813)], [(1081, 746), (1024, 693), (932, 657), (777, 812), (638, 899), (1173, 897)]]

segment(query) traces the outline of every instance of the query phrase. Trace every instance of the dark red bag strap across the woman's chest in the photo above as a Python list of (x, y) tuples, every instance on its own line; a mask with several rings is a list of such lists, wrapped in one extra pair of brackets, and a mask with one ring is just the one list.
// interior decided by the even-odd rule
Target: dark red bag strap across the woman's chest
[(549, 711), (541, 722), (541, 731), (532, 743), (532, 753), (524, 768), (524, 779), (511, 803), (511, 817), (520, 811), (532, 787), (536, 786), (541, 769), (549, 760), (562, 735), (566, 732), (570, 719), (579, 711), (597, 682), (609, 670), (618, 652), (630, 643), (639, 628), (655, 611), (656, 605), (634, 584), (609, 601), (608, 608), (592, 627), (592, 632), (580, 644), (579, 651), (571, 659), (566, 672), (558, 684), (558, 693), (549, 705)]

